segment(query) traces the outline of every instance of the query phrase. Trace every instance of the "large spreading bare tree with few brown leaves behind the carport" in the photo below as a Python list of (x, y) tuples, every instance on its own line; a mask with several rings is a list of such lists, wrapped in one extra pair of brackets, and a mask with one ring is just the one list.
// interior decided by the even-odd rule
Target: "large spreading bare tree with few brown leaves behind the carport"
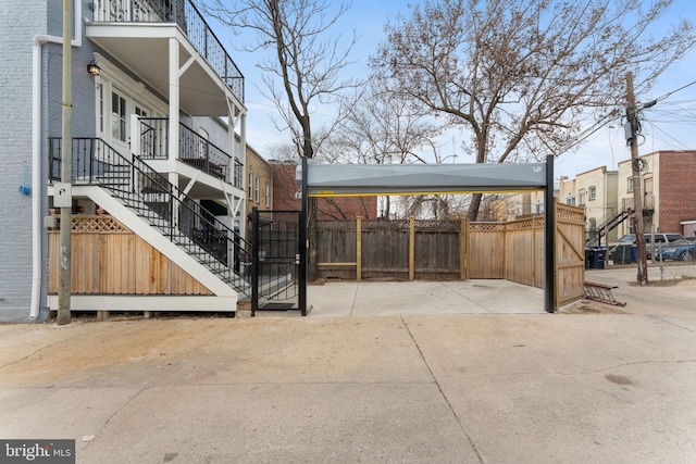
[(539, 160), (618, 117), (626, 71), (646, 90), (694, 46), (685, 20), (649, 36), (671, 3), (424, 1), (385, 26), (372, 65), (393, 92), (469, 133), (477, 163)]

